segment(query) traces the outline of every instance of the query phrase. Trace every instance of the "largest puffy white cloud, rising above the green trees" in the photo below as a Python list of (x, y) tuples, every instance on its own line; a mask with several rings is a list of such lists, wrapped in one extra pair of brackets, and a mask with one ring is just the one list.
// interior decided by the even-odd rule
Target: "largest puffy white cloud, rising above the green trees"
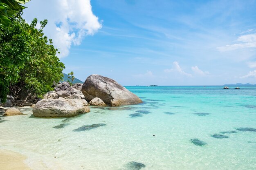
[(72, 44), (80, 45), (85, 36), (94, 35), (102, 26), (92, 12), (90, 0), (33, 0), (27, 5), (26, 20), (48, 20), (44, 32), (60, 48), (59, 57), (67, 56)]

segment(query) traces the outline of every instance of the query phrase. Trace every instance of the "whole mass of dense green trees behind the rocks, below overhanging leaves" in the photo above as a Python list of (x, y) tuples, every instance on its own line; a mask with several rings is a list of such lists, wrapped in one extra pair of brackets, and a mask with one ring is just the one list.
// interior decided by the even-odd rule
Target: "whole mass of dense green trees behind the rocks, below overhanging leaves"
[(9, 26), (0, 25), (0, 98), (5, 101), (10, 86), (42, 97), (62, 77), (64, 64), (56, 56), (52, 40), (44, 36), (47, 20), (25, 23), (20, 15)]

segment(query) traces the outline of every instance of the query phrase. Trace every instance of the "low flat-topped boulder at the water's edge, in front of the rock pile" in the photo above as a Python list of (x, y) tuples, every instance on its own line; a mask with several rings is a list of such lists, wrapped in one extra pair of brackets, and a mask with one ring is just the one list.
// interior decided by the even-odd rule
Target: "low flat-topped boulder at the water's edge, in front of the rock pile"
[(43, 99), (33, 108), (35, 117), (73, 117), (90, 112), (84, 99)]

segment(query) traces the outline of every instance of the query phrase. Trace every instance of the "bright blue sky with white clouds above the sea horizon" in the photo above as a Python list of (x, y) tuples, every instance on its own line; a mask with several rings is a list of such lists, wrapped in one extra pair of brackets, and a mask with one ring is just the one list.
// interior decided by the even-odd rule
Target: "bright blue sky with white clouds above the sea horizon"
[(31, 0), (64, 73), (129, 85), (256, 84), (255, 0)]

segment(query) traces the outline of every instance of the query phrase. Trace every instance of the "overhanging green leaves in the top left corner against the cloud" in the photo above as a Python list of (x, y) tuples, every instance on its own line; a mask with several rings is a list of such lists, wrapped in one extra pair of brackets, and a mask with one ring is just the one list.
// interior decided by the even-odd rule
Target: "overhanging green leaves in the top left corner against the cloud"
[(26, 7), (21, 4), (25, 4), (29, 0), (0, 0), (0, 24), (9, 26), (9, 17), (15, 13), (19, 13)]

